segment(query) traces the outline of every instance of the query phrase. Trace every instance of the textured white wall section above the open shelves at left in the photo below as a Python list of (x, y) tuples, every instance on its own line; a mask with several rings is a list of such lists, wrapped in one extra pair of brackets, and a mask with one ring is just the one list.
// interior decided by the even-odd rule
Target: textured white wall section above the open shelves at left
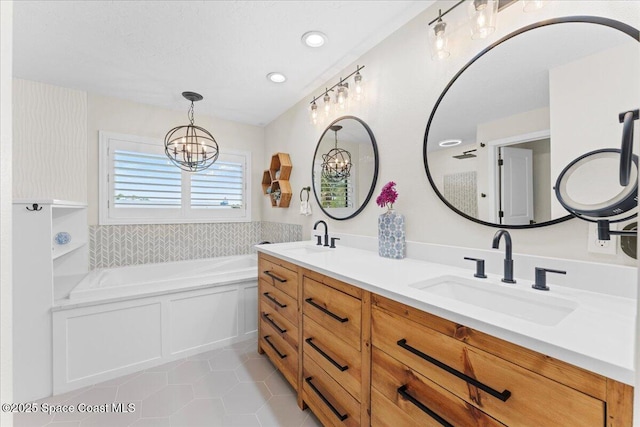
[(87, 201), (87, 94), (14, 80), (13, 197)]

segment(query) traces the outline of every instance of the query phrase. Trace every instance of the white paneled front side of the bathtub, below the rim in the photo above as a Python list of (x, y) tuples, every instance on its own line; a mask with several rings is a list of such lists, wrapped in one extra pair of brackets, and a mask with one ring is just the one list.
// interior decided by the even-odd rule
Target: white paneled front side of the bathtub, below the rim
[(255, 338), (256, 291), (254, 276), (196, 290), (55, 307), (53, 393)]

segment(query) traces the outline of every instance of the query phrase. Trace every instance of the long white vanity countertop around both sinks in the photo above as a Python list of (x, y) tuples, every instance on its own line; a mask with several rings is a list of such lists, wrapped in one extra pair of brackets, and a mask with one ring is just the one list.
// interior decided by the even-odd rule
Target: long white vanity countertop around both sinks
[(472, 269), (409, 258), (387, 259), (376, 252), (346, 246), (309, 253), (296, 250), (304, 247), (320, 248), (309, 241), (256, 246), (260, 252), (634, 385), (635, 299), (554, 285), (551, 274), (547, 277), (548, 292), (531, 289), (531, 280), (518, 277), (514, 285), (501, 283), (501, 276), (496, 274), (477, 279), (487, 286), (517, 289), (532, 299), (549, 296), (550, 300), (569, 300), (577, 305), (556, 325), (545, 326), (410, 286), (445, 275), (473, 279)]

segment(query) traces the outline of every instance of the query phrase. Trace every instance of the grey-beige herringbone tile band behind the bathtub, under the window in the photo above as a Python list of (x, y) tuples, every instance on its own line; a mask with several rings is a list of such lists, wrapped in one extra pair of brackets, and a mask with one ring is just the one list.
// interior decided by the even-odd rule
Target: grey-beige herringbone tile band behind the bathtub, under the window
[(274, 222), (94, 225), (89, 268), (254, 253), (253, 245), (302, 240), (302, 226)]

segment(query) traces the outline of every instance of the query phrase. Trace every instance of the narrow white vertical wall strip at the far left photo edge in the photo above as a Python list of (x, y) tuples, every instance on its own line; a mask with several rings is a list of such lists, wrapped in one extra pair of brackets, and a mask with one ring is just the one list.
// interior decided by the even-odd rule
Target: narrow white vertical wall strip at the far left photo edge
[[(0, 2), (0, 402), (13, 401), (12, 211), (12, 67), (13, 2)], [(0, 412), (0, 425), (11, 427), (13, 415)]]

